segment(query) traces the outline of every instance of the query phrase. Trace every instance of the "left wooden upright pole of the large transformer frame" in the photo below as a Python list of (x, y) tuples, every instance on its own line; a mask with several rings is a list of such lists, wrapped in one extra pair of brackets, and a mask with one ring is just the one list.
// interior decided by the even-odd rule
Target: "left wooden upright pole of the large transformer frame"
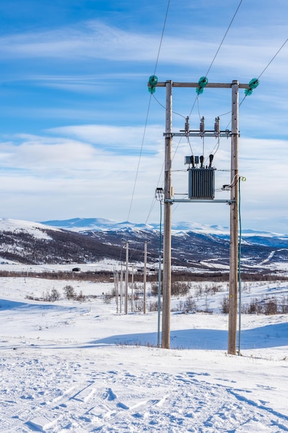
[(171, 165), (172, 165), (172, 81), (166, 81), (166, 128), (164, 173), (163, 306), (162, 348), (170, 349), (171, 310)]

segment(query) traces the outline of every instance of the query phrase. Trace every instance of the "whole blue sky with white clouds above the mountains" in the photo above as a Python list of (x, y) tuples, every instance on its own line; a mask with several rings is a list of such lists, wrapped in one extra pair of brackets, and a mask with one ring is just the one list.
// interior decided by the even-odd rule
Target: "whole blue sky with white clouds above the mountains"
[[(261, 75), (240, 106), (242, 225), (287, 233), (288, 42), (276, 53), (288, 37), (288, 3), (242, 0), (222, 42), (239, 4), (171, 0), (156, 67), (166, 0), (1, 1), (1, 216), (159, 221), (165, 90), (151, 98), (146, 86), (156, 67), (159, 81), (198, 82), (207, 71), (209, 82)], [(229, 89), (195, 96), (173, 90), (173, 131), (190, 113), (192, 129), (202, 116), (207, 129), (216, 116), (229, 128)], [(176, 194), (187, 190), (184, 156), (191, 148), (208, 156), (215, 145), (215, 138), (174, 138)], [(222, 138), (217, 189), (229, 183), (229, 158), (230, 140)], [(173, 221), (227, 226), (229, 208), (173, 205)]]

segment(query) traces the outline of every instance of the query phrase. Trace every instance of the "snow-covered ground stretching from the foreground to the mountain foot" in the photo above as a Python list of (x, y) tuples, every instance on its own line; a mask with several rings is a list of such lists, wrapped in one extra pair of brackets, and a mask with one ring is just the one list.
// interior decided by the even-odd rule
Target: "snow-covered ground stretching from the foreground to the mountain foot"
[[(66, 300), (67, 284), (93, 297)], [(52, 289), (56, 302), (28, 299)], [(128, 304), (127, 315), (117, 313), (102, 295), (112, 289), (0, 279), (1, 432), (288, 431), (288, 315), (242, 315), (242, 356), (228, 356), (225, 283), (198, 296), (213, 314), (171, 313), (166, 350), (157, 348), (157, 312), (131, 313)], [(242, 298), (287, 293), (285, 283), (250, 283)]]

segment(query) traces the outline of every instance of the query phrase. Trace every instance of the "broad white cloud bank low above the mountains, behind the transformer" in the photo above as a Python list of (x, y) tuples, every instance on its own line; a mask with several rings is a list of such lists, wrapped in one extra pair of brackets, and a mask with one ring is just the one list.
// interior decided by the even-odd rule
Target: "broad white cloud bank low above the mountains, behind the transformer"
[[(159, 128), (154, 128), (148, 138), (150, 150), (153, 137), (161, 135)], [(57, 132), (61, 132), (62, 136), (56, 135)], [(3, 210), (10, 209), (11, 217), (20, 218), (23, 208), (27, 214), (31, 208), (37, 217), (30, 216), (28, 219), (37, 221), (95, 214), (126, 219), (139, 163), (139, 153), (135, 152), (135, 138), (139, 135), (139, 128), (88, 125), (87, 128), (75, 126), (53, 129), (48, 133), (48, 136), (17, 136), (17, 145), (12, 140), (1, 145), (0, 192)], [(52, 133), (54, 136), (51, 136)], [(99, 145), (95, 144), (95, 136)], [(158, 141), (154, 144), (153, 153), (143, 154), (140, 160), (131, 211), (131, 219), (134, 221), (146, 220), (155, 188), (162, 186), (164, 138)], [(217, 168), (216, 187), (230, 179), (227, 171), (230, 143), (229, 140), (228, 144), (226, 141), (225, 139), (220, 145), (214, 158)], [(120, 147), (126, 145), (128, 153), (122, 151), (115, 154), (110, 149), (111, 144), (112, 149), (115, 144)], [(175, 141), (173, 151), (176, 147)], [(198, 150), (201, 151), (196, 145), (195, 152)], [(184, 166), (186, 154), (189, 154), (189, 147), (182, 142), (178, 146), (172, 167), (172, 183), (176, 194), (184, 194), (187, 190), (187, 167)], [(286, 214), (284, 198), (288, 174), (285, 155), (284, 140), (240, 138), (240, 174), (247, 178), (245, 183), (241, 183), (245, 227), (256, 228), (258, 219), (265, 221), (269, 227), (270, 224), (272, 226), (272, 221)], [(222, 172), (222, 169), (225, 171)], [(218, 199), (229, 199), (227, 192), (216, 195)], [(271, 205), (267, 207), (268, 200)], [(156, 205), (149, 221), (157, 221), (158, 212)], [(21, 217), (26, 218), (23, 213)], [(188, 219), (211, 224), (217, 221), (227, 225), (229, 208), (218, 204), (174, 205), (173, 218), (177, 221)], [(272, 227), (270, 230), (273, 230)]]

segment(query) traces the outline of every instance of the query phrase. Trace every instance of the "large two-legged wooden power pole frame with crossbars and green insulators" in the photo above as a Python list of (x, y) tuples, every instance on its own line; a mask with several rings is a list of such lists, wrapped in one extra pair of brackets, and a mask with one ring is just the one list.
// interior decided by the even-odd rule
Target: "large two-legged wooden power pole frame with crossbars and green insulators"
[[(204, 80), (203, 80), (204, 79)], [(251, 80), (251, 82), (256, 79)], [(257, 80), (256, 80), (257, 81)], [(166, 87), (166, 128), (165, 128), (165, 162), (164, 162), (164, 233), (163, 233), (163, 306), (162, 306), (162, 348), (170, 348), (170, 315), (171, 315), (171, 205), (175, 202), (182, 203), (229, 203), (230, 205), (230, 267), (229, 267), (229, 329), (228, 329), (228, 353), (236, 354), (237, 333), (237, 288), (238, 288), (238, 90), (253, 87), (249, 84), (239, 84), (238, 80), (231, 83), (208, 83), (206, 77), (201, 77), (198, 83), (157, 82), (157, 77), (151, 76), (148, 88), (155, 91), (156, 86)], [(254, 83), (255, 84), (255, 83)], [(258, 84), (257, 84), (258, 85)], [(171, 147), (173, 136), (200, 136), (195, 131), (185, 133), (172, 132), (172, 88), (195, 87), (202, 93), (204, 87), (218, 89), (232, 89), (232, 126), (231, 126), (231, 199), (228, 200), (197, 200), (197, 199), (173, 199), (171, 197)], [(249, 94), (249, 93), (248, 93)], [(211, 131), (204, 133), (211, 136)], [(227, 136), (230, 131), (220, 131), (220, 136)]]

